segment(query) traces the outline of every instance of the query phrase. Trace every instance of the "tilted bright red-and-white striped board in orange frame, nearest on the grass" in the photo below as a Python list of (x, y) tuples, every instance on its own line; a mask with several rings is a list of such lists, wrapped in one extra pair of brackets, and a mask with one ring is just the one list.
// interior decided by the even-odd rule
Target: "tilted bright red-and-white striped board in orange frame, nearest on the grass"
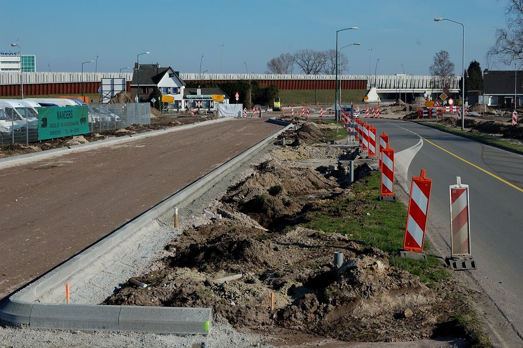
[(408, 201), (407, 225), (403, 240), (403, 249), (406, 251), (423, 251), (431, 186), (432, 180), (425, 177), (424, 169), (418, 177), (412, 178), (411, 198)]

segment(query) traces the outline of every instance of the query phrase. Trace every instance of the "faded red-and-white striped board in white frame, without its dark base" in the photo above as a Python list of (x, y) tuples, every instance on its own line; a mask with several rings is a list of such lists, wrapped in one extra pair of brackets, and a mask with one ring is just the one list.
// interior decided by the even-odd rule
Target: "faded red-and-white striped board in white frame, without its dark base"
[(452, 257), (470, 256), (469, 185), (450, 185), (450, 250)]

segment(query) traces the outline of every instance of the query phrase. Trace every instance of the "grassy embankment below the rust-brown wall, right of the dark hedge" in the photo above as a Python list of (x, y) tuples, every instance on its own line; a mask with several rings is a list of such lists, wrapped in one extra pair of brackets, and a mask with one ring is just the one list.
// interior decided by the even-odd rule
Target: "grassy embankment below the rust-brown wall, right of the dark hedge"
[[(367, 94), (367, 89), (342, 89), (342, 99), (340, 104), (350, 104), (350, 102), (360, 103)], [(281, 98), (281, 105), (334, 105), (334, 89), (317, 89), (316, 98), (314, 98), (314, 89), (280, 89), (278, 96)], [(324, 110), (325, 111), (325, 110)]]

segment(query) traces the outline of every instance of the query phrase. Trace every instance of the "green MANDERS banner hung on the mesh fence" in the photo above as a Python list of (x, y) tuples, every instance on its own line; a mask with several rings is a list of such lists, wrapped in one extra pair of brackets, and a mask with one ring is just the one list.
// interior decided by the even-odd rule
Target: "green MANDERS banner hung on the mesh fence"
[(89, 132), (87, 106), (38, 109), (38, 140), (76, 136)]

